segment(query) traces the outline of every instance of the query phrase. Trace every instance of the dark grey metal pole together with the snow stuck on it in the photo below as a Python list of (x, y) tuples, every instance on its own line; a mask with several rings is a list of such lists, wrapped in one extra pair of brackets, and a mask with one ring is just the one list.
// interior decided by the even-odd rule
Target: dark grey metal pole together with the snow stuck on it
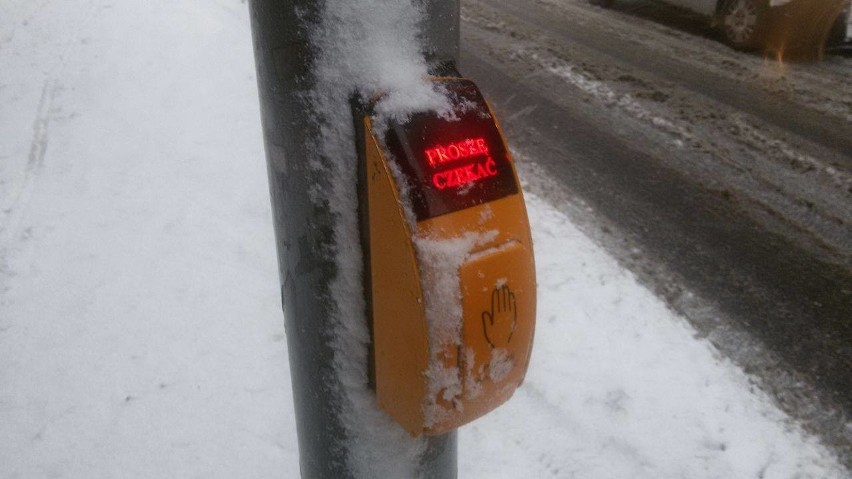
[(458, 2), (250, 8), (302, 476), (456, 477), (455, 433), (410, 437), (369, 388), (348, 100), (381, 92), (400, 118), (445, 108), (425, 57), (455, 62)]

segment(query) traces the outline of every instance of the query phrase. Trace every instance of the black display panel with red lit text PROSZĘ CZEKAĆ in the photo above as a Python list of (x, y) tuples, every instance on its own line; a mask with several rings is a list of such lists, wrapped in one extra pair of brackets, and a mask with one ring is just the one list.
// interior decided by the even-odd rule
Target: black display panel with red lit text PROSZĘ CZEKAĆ
[(497, 125), (470, 80), (442, 82), (455, 119), (416, 113), (392, 123), (384, 144), (408, 184), (418, 221), (518, 192)]

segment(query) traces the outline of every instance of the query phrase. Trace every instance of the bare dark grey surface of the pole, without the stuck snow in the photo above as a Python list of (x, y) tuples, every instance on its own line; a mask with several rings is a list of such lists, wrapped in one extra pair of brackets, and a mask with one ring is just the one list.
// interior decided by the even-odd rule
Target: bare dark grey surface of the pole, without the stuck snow
[[(458, 57), (458, 2), (428, 0), (424, 54), (454, 65)], [(311, 24), (318, 0), (250, 0), (258, 93), (278, 249), (281, 297), (290, 355), (300, 468), (303, 478), (354, 477), (347, 468), (342, 384), (329, 344), (335, 276), (332, 217), (311, 202), (309, 188), (323, 178), (308, 166), (306, 146), (318, 132), (303, 93), (313, 87)], [(448, 28), (449, 27), (449, 28)], [(444, 31), (446, 29), (446, 31)], [(348, 111), (349, 105), (340, 105)], [(355, 145), (352, 146), (353, 150)], [(393, 458), (389, 458), (392, 460)], [(419, 471), (425, 478), (455, 478), (456, 434), (428, 439)]]

